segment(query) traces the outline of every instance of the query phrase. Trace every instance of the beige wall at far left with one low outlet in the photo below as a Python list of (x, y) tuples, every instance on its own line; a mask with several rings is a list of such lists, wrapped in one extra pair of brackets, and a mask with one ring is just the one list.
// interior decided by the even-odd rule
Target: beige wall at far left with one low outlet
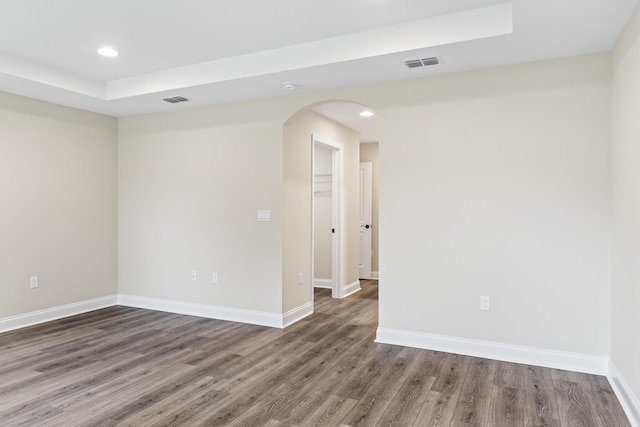
[(0, 318), (116, 293), (116, 125), (0, 93)]

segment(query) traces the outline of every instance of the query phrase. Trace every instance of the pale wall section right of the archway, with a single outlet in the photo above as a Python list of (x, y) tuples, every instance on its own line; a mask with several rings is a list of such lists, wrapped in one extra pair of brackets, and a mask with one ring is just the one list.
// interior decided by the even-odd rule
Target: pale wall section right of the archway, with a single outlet
[(422, 102), (377, 109), (381, 327), (609, 354), (609, 59), (406, 82)]

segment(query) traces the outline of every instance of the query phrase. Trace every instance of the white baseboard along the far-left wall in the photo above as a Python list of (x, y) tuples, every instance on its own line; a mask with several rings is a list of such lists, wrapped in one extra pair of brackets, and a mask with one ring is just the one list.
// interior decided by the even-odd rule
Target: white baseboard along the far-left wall
[(116, 296), (109, 295), (102, 298), (95, 298), (61, 305), (59, 307), (47, 308), (45, 310), (33, 311), (31, 313), (20, 314), (18, 316), (5, 317), (0, 319), (0, 332), (26, 328), (27, 326), (50, 322), (52, 320), (62, 319), (63, 317), (75, 316), (76, 314), (111, 307), (116, 305), (116, 303)]

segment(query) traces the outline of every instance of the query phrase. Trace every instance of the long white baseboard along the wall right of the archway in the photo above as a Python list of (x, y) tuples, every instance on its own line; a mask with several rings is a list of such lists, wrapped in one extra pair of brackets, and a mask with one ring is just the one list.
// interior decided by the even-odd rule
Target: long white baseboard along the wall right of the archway
[(609, 358), (605, 356), (397, 329), (378, 328), (376, 342), (597, 375), (606, 375), (609, 369)]

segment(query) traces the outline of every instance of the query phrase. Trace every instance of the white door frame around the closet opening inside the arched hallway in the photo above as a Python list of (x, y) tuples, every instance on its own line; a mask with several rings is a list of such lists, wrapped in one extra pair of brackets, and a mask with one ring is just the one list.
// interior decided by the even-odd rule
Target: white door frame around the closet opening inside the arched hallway
[[(331, 150), (331, 216), (333, 229), (332, 237), (332, 268), (331, 268), (331, 297), (342, 298), (342, 248), (343, 248), (343, 170), (344, 170), (344, 146), (330, 139), (322, 138), (318, 135), (311, 135), (311, 279), (315, 278), (315, 147), (316, 145)], [(311, 286), (311, 301), (314, 300), (314, 286)]]

